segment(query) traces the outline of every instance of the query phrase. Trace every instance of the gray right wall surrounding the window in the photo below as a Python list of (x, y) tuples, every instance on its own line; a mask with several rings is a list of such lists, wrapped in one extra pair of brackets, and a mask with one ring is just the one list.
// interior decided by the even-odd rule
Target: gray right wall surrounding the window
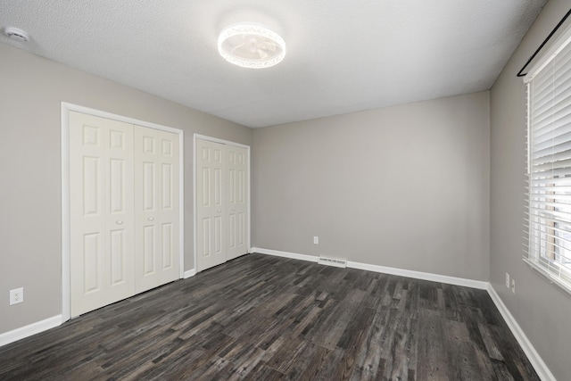
[[(491, 91), (490, 282), (542, 360), (560, 380), (571, 379), (571, 297), (522, 261), (525, 217), (525, 84), (517, 71), (569, 10), (550, 0)], [(504, 286), (516, 279), (516, 294)]]

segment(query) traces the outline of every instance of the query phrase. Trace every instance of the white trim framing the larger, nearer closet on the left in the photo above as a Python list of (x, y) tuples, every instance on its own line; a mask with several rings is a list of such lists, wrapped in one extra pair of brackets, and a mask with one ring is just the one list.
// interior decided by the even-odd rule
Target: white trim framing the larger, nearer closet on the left
[(70, 112), (82, 112), (100, 118), (124, 121), (147, 128), (178, 134), (178, 219), (179, 219), (179, 275), (185, 272), (185, 151), (184, 131), (145, 120), (137, 120), (111, 112), (62, 102), (62, 321), (70, 319)]

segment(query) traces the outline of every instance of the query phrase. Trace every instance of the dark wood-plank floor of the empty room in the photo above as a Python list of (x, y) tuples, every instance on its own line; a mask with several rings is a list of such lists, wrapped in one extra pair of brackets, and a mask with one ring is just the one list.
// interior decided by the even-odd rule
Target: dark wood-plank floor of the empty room
[(2, 380), (536, 380), (483, 290), (250, 254), (0, 348)]

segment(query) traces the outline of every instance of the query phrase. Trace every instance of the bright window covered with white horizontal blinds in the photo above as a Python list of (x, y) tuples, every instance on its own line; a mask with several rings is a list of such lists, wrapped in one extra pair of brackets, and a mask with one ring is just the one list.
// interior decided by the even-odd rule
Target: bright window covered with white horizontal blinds
[(529, 181), (525, 261), (571, 292), (571, 28), (525, 81)]

